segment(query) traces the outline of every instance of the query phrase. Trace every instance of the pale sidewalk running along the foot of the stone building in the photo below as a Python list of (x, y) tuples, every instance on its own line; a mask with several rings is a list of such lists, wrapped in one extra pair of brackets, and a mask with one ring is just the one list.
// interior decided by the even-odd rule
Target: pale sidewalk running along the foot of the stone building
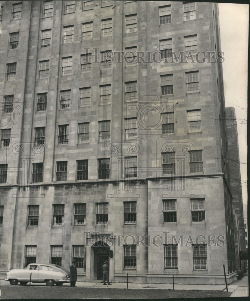
[[(77, 287), (98, 287), (103, 289), (126, 289), (127, 283), (111, 283), (112, 285), (103, 285), (102, 281), (90, 281), (90, 282), (77, 282)], [(28, 286), (29, 284), (27, 284)], [(46, 284), (34, 284), (31, 286), (45, 286)], [(1, 280), (1, 286), (10, 286), (8, 281)], [(63, 286), (70, 286), (70, 284), (64, 284)], [(128, 283), (129, 289), (155, 289), (155, 290), (172, 290), (173, 284), (146, 284), (146, 283)], [(204, 285), (204, 284), (174, 284), (175, 290), (219, 290), (226, 291), (226, 285)], [(248, 274), (241, 280), (237, 280), (228, 285), (228, 292), (232, 293), (230, 297), (246, 297), (248, 296)]]

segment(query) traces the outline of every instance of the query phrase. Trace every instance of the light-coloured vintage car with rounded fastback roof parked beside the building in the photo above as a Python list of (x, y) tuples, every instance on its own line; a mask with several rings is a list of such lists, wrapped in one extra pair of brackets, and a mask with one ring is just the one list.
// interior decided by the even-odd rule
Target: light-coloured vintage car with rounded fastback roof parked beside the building
[[(31, 274), (31, 280), (30, 280)], [(28, 282), (46, 283), (47, 286), (62, 286), (65, 282), (70, 281), (70, 272), (55, 264), (31, 263), (24, 269), (13, 269), (7, 272), (6, 281), (10, 281), (11, 285), (26, 285)]]

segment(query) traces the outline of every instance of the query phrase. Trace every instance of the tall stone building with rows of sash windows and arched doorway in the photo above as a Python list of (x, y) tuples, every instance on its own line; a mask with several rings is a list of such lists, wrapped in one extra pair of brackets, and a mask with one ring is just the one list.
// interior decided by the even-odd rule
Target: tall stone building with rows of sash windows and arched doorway
[(104, 260), (117, 282), (234, 281), (217, 3), (2, 1), (1, 20), (1, 277), (73, 259), (80, 281)]

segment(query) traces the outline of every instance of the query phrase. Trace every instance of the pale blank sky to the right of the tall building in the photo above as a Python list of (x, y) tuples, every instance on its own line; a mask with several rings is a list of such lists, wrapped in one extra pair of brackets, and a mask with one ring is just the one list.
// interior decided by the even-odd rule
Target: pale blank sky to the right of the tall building
[(247, 204), (247, 60), (249, 5), (219, 3), (226, 107), (236, 112), (243, 203)]

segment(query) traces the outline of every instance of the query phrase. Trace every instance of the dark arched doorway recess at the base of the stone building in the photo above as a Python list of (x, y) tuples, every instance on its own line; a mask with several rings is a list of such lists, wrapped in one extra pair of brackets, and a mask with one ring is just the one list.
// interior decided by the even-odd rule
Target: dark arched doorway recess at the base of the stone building
[(92, 245), (91, 249), (94, 252), (95, 279), (102, 280), (103, 279), (102, 266), (105, 260), (109, 262), (109, 246), (103, 240), (99, 240)]

